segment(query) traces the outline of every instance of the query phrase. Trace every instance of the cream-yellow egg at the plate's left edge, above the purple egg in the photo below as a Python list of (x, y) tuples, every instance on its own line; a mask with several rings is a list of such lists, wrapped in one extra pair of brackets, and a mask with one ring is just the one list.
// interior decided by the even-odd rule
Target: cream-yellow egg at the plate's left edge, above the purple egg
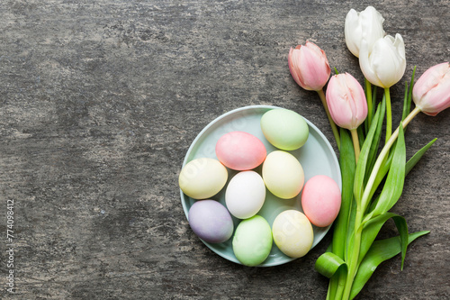
[(220, 192), (228, 171), (217, 159), (193, 159), (180, 172), (178, 184), (185, 195), (206, 199)]

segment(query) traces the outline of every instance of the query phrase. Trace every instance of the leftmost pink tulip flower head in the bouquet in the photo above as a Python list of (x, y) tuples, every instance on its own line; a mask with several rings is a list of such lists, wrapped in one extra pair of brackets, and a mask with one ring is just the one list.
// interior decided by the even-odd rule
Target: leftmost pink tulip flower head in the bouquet
[(291, 48), (288, 63), (293, 79), (304, 89), (319, 91), (329, 80), (329, 60), (325, 52), (311, 41)]

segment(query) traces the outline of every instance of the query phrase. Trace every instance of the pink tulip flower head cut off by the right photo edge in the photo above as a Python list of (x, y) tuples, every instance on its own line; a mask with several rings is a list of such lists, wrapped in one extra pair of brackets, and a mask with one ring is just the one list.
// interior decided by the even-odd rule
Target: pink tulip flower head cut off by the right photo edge
[(412, 99), (420, 111), (437, 115), (450, 107), (450, 66), (438, 64), (422, 74), (412, 89)]

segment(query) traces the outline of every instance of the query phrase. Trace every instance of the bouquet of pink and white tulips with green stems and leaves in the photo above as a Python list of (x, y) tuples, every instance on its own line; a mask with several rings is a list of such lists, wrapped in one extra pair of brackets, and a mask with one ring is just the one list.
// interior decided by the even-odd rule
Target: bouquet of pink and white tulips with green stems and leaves
[[(329, 79), (325, 52), (310, 41), (289, 52), (294, 80), (319, 93), (339, 150), (341, 209), (331, 245), (316, 261), (316, 269), (330, 279), (327, 299), (353, 299), (380, 263), (400, 253), (403, 268), (407, 246), (428, 233), (408, 232), (405, 218), (389, 210), (399, 200), (410, 169), (436, 141), (430, 141), (407, 161), (404, 129), (419, 112), (436, 115), (450, 106), (450, 66), (445, 62), (429, 68), (415, 84), (414, 69), (410, 85), (405, 87), (401, 123), (392, 132), (389, 88), (403, 77), (406, 59), (401, 35), (385, 36), (383, 22), (372, 6), (347, 14), (347, 48), (359, 59), (365, 89), (348, 73)], [(377, 86), (384, 92), (378, 104)], [(415, 108), (411, 110), (412, 101)], [(396, 224), (399, 236), (375, 241), (389, 219)]]

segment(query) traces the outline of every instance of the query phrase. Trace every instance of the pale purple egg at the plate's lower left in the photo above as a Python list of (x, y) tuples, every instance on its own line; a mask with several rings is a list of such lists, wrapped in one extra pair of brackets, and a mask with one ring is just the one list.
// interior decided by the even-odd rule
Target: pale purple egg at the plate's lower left
[(228, 209), (214, 200), (196, 201), (187, 216), (193, 232), (203, 241), (228, 241), (234, 226)]

